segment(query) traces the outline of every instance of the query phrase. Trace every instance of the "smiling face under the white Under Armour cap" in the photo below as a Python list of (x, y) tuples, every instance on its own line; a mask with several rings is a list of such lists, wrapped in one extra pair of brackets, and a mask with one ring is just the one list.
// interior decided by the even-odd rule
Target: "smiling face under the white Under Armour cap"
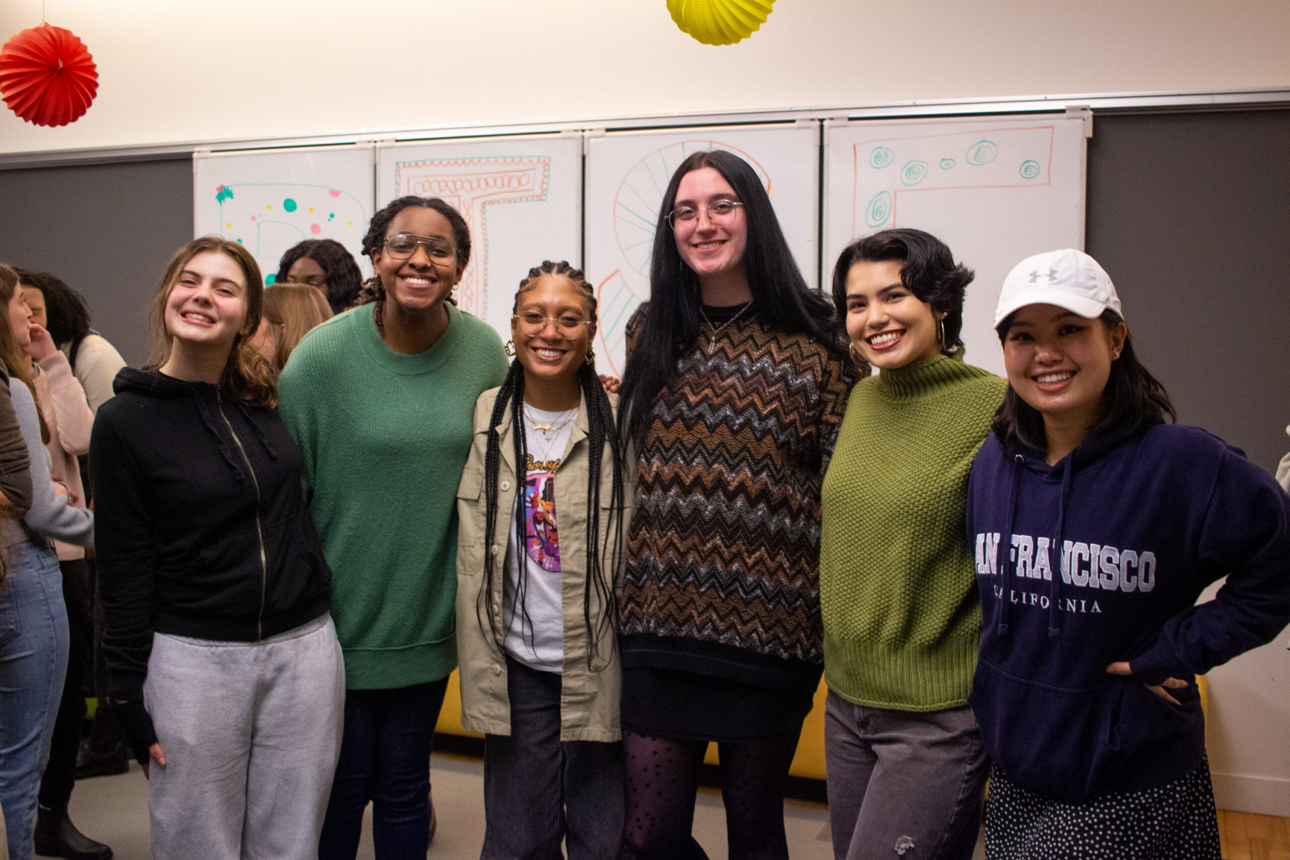
[(1013, 316), (1004, 339), (1007, 382), (1046, 420), (1093, 427), (1126, 335), (1124, 322), (1108, 329), (1055, 304), (1028, 304)]

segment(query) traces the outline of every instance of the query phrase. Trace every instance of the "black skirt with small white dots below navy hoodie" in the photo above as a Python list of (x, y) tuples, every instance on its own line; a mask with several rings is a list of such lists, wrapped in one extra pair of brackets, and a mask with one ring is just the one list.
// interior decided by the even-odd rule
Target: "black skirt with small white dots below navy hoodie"
[(1062, 803), (989, 772), (987, 860), (1220, 860), (1209, 761), (1146, 792)]

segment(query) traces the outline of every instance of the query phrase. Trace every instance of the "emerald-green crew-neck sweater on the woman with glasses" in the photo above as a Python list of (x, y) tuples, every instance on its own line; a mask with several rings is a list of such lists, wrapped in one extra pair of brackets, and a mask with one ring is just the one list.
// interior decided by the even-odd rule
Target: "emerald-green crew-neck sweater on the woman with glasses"
[(507, 370), (497, 331), (455, 307), (414, 356), (384, 344), (372, 309), (310, 331), (279, 379), (351, 690), (437, 681), (457, 665), (457, 485), (475, 401)]

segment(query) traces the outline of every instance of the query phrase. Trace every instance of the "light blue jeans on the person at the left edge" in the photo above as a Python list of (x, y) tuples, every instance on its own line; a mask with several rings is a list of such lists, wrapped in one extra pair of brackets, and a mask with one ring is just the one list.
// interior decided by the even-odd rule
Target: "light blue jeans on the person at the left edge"
[(58, 556), (44, 538), (9, 548), (0, 584), (0, 807), (10, 860), (31, 860), (36, 793), (67, 673)]

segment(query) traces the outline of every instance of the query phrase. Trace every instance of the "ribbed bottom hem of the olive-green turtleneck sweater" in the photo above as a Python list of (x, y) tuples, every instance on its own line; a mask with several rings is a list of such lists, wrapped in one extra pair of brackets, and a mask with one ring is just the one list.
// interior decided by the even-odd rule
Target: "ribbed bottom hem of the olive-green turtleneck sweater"
[[(824, 681), (848, 701), (891, 710), (944, 710), (968, 704), (980, 636), (947, 638), (930, 649), (838, 640), (824, 633)], [(863, 667), (882, 667), (864, 672)], [(846, 667), (829, 672), (829, 667)]]

